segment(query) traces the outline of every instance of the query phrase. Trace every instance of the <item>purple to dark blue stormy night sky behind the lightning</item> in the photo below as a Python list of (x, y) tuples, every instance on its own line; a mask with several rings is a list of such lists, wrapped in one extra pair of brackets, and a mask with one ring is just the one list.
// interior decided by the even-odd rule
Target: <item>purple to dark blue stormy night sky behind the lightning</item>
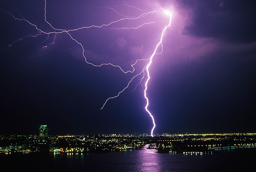
[[(148, 61), (138, 61), (134, 73), (111, 65), (95, 67), (86, 63), (81, 45), (67, 33), (38, 34), (33, 25), (49, 33), (59, 31), (52, 27), (101, 26), (156, 11), (68, 32), (82, 44), (88, 62), (129, 71), (136, 59), (152, 55), (169, 23), (165, 10), (171, 9), (163, 52), (149, 68), (154, 133), (256, 132), (254, 1), (48, 0), (46, 20), (52, 27), (45, 21), (44, 0), (0, 4), (1, 133), (35, 134), (40, 125), (48, 125), (50, 134), (150, 133), (146, 74), (142, 85), (142, 76), (136, 77), (100, 110)], [(110, 29), (123, 27), (138, 28)], [(24, 37), (29, 35), (34, 37)]]

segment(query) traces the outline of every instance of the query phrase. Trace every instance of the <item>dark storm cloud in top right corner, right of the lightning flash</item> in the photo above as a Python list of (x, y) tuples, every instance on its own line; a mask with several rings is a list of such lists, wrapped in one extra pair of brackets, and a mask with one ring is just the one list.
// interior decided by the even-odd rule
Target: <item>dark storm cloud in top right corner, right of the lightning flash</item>
[(255, 1), (183, 1), (190, 10), (183, 34), (234, 43), (256, 41)]

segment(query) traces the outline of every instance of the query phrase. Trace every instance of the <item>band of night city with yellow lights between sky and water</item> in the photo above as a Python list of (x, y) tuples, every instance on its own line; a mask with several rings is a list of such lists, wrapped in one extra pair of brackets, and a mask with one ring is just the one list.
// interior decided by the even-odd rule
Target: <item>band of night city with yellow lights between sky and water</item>
[(256, 146), (256, 133), (221, 134), (82, 134), (49, 135), (47, 125), (41, 125), (36, 135), (19, 131), (16, 135), (0, 133), (0, 153), (103, 153), (135, 150), (144, 146), (155, 153), (211, 154), (221, 149)]

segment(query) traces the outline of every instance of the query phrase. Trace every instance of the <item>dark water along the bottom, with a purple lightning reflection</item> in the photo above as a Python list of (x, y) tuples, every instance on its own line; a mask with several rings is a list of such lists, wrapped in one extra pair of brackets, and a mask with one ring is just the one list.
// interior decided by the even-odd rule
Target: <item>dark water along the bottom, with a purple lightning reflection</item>
[(2, 154), (0, 171), (255, 171), (255, 147), (205, 155), (159, 154), (146, 147), (90, 154)]

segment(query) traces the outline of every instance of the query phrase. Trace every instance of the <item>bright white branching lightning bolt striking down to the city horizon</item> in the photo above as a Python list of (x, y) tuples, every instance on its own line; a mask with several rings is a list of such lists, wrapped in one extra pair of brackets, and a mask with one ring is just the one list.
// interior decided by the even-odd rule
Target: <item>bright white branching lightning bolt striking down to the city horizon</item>
[[(2, 1), (0, 1), (0, 2), (2, 2)], [(132, 16), (132, 17), (131, 17), (131, 16), (125, 16), (125, 15), (122, 15), (120, 12), (118, 12), (118, 11), (115, 9), (115, 8), (117, 8), (117, 7), (119, 7), (119, 6), (113, 7), (112, 5), (107, 5), (107, 4), (103, 1), (103, 3), (106, 5), (106, 7), (103, 7), (103, 8), (113, 10), (115, 13), (119, 14), (119, 15), (122, 16), (123, 18), (121, 18), (121, 19), (119, 19), (119, 20), (116, 20), (116, 21), (113, 21), (113, 22), (110, 22), (110, 23), (108, 23), (108, 24), (103, 24), (103, 25), (101, 25), (101, 26), (95, 26), (95, 25), (93, 25), (93, 26), (84, 26), (84, 27), (77, 28), (77, 29), (72, 29), (72, 30), (65, 30), (65, 29), (57, 29), (57, 28), (53, 27), (52, 24), (50, 24), (50, 23), (47, 21), (47, 17), (46, 17), (46, 16), (47, 16), (47, 15), (46, 15), (46, 0), (45, 0), (45, 8), (44, 8), (44, 12), (45, 12), (45, 15), (44, 15), (44, 16), (45, 16), (45, 22), (46, 22), (47, 24), (49, 24), (49, 26), (53, 29), (53, 31), (43, 31), (43, 30), (39, 29), (38, 26), (34, 25), (33, 23), (30, 23), (30, 22), (29, 22), (28, 20), (26, 20), (22, 15), (20, 15), (20, 13), (19, 13), (16, 9), (13, 9), (10, 5), (8, 5), (8, 4), (2, 2), (2, 3), (4, 3), (4, 4), (6, 4), (6, 5), (8, 5), (11, 9), (16, 10), (16, 11), (19, 13), (19, 16), (20, 16), (21, 18), (15, 17), (12, 13), (9, 13), (9, 12), (7, 12), (7, 11), (5, 11), (5, 10), (0, 9), (1, 11), (4, 11), (5, 13), (10, 14), (15, 20), (23, 20), (23, 21), (27, 22), (29, 25), (33, 26), (33, 27), (38, 31), (37, 34), (28, 35), (28, 36), (23, 36), (22, 38), (15, 40), (15, 41), (12, 42), (10, 45), (8, 45), (8, 48), (7, 48), (7, 49), (3, 49), (3, 50), (8, 50), (8, 49), (10, 49), (11, 46), (13, 46), (16, 42), (21, 41), (21, 40), (22, 40), (23, 38), (25, 38), (25, 37), (37, 37), (38, 35), (46, 34), (46, 35), (47, 35), (47, 38), (45, 39), (45, 41), (41, 42), (41, 44), (40, 44), (40, 46), (42, 47), (42, 48), (41, 48), (41, 50), (42, 50), (43, 48), (45, 48), (45, 47), (47, 47), (47, 46), (49, 46), (49, 45), (51, 45), (51, 44), (54, 44), (55, 38), (56, 38), (57, 34), (66, 33), (66, 34), (68, 34), (68, 35), (70, 36), (70, 38), (71, 38), (72, 40), (76, 41), (77, 44), (79, 44), (79, 45), (81, 46), (81, 48), (82, 48), (82, 50), (83, 50), (82, 55), (83, 55), (83, 57), (84, 57), (86, 63), (88, 63), (88, 64), (90, 64), (90, 65), (93, 65), (93, 66), (95, 66), (95, 67), (101, 67), (101, 66), (103, 66), (103, 65), (111, 65), (111, 66), (113, 66), (113, 67), (118, 67), (118, 68), (119, 68), (122, 72), (124, 72), (124, 73), (128, 73), (128, 72), (133, 73), (133, 72), (135, 71), (134, 65), (136, 65), (138, 61), (141, 61), (141, 60), (148, 61), (148, 63), (146, 64), (146, 66), (144, 66), (143, 69), (142, 69), (140, 72), (138, 72), (136, 75), (134, 75), (134, 76), (132, 77), (132, 79), (128, 82), (128, 84), (126, 85), (126, 87), (125, 87), (122, 91), (120, 91), (116, 96), (110, 97), (110, 98), (108, 98), (108, 99), (105, 101), (105, 103), (103, 104), (103, 106), (101, 107), (101, 109), (103, 109), (103, 107), (105, 106), (105, 104), (107, 103), (108, 100), (118, 97), (118, 96), (120, 95), (120, 93), (122, 93), (126, 88), (128, 88), (129, 85), (130, 85), (130, 83), (134, 80), (134, 78), (136, 78), (136, 77), (139, 76), (139, 75), (140, 75), (140, 76), (142, 75), (141, 81), (140, 81), (138, 84), (143, 85), (143, 84), (142, 84), (142, 80), (145, 78), (145, 76), (147, 76), (146, 82), (145, 82), (145, 84), (144, 84), (144, 98), (146, 99), (145, 110), (146, 110), (146, 112), (150, 115), (150, 117), (152, 118), (152, 121), (153, 121), (153, 124), (154, 124), (154, 126), (153, 126), (153, 128), (152, 128), (152, 130), (151, 130), (151, 136), (153, 137), (153, 131), (154, 131), (154, 128), (155, 128), (156, 124), (155, 124), (155, 120), (154, 120), (153, 115), (152, 115), (151, 112), (148, 110), (149, 100), (148, 100), (148, 97), (147, 97), (147, 89), (148, 89), (148, 88), (147, 88), (147, 84), (148, 84), (148, 82), (149, 82), (149, 80), (150, 80), (150, 71), (149, 71), (149, 68), (150, 68), (150, 65), (151, 65), (151, 63), (152, 63), (153, 57), (154, 57), (156, 54), (159, 55), (159, 54), (161, 54), (161, 53), (163, 52), (163, 44), (162, 44), (162, 41), (163, 41), (164, 34), (166, 33), (167, 28), (168, 28), (168, 27), (170, 26), (170, 24), (171, 24), (172, 14), (169, 13), (168, 11), (165, 11), (165, 14), (169, 16), (169, 24), (168, 24), (167, 26), (165, 26), (165, 28), (163, 29), (162, 34), (161, 34), (160, 41), (159, 41), (158, 44), (156, 45), (155, 50), (154, 50), (154, 52), (152, 53), (151, 57), (149, 57), (149, 58), (147, 58), (147, 59), (137, 59), (137, 60), (135, 61), (135, 63), (131, 65), (131, 67), (132, 67), (133, 70), (124, 71), (120, 66), (118, 66), (118, 65), (113, 65), (112, 63), (103, 63), (103, 64), (101, 64), (101, 65), (94, 65), (93, 63), (88, 62), (87, 59), (86, 59), (86, 57), (85, 57), (85, 55), (84, 55), (84, 51), (85, 51), (85, 50), (84, 50), (83, 45), (82, 45), (79, 41), (77, 41), (76, 39), (74, 39), (74, 38), (71, 36), (71, 32), (72, 32), (72, 31), (77, 31), (77, 30), (86, 29), (86, 28), (91, 28), (91, 27), (101, 28), (101, 29), (116, 29), (116, 30), (119, 30), (119, 29), (138, 29), (138, 28), (140, 28), (140, 27), (143, 27), (144, 25), (150, 25), (150, 24), (152, 24), (152, 23), (155, 23), (155, 21), (152, 21), (152, 22), (148, 22), (148, 23), (143, 23), (143, 24), (141, 24), (141, 25), (138, 25), (137, 27), (120, 27), (120, 28), (113, 27), (113, 28), (109, 28), (110, 25), (112, 25), (112, 24), (114, 24), (114, 23), (121, 22), (121, 21), (123, 21), (123, 20), (136, 20), (136, 19), (139, 19), (139, 18), (142, 18), (142, 17), (146, 17), (147, 15), (153, 14), (153, 13), (155, 13), (155, 12), (158, 12), (158, 11), (147, 12), (146, 10), (141, 10), (141, 9), (139, 9), (139, 8), (137, 8), (137, 7), (130, 6), (130, 5), (128, 5), (125, 1), (123, 1), (123, 2), (124, 2), (124, 4), (123, 4), (123, 5), (119, 5), (119, 6), (128, 6), (128, 7), (130, 7), (130, 8), (135, 8), (135, 9), (141, 11), (143, 14), (141, 14), (141, 15), (139, 15), (139, 16), (137, 16), (137, 17), (136, 17), (136, 16)], [(54, 36), (53, 41), (49, 43), (49, 35), (50, 35), (50, 34), (55, 34), (55, 36)], [(47, 43), (47, 42), (48, 42), (48, 43)], [(161, 49), (161, 52), (160, 52), (160, 53), (157, 53), (157, 50), (158, 50), (158, 48), (159, 48), (160, 45), (161, 45), (161, 48), (162, 48), (162, 49)], [(40, 47), (40, 46), (39, 46), (39, 47)], [(39, 47), (38, 47), (38, 48), (39, 48)], [(38, 48), (37, 48), (37, 49), (38, 49)], [(1, 49), (2, 49), (2, 48), (1, 48)], [(37, 50), (37, 49), (36, 49), (36, 50)], [(40, 51), (40, 50), (39, 50), (39, 51)], [(146, 75), (145, 75), (145, 73), (146, 73)], [(138, 85), (138, 84), (137, 84), (137, 85)], [(137, 87), (137, 85), (136, 85), (136, 87)], [(136, 87), (135, 87), (135, 89), (136, 89)], [(50, 91), (53, 92), (53, 93), (55, 93), (55, 92), (52, 91), (52, 90), (50, 90)]]

